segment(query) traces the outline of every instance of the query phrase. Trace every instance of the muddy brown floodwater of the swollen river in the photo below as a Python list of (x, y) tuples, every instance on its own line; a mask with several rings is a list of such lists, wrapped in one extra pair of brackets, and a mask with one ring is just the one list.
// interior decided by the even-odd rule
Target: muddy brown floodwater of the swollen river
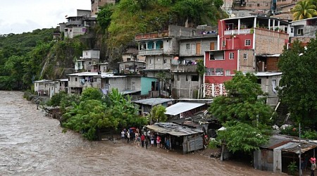
[(0, 91), (0, 175), (280, 175), (202, 152), (89, 142), (62, 130), (58, 120), (23, 99), (23, 92)]

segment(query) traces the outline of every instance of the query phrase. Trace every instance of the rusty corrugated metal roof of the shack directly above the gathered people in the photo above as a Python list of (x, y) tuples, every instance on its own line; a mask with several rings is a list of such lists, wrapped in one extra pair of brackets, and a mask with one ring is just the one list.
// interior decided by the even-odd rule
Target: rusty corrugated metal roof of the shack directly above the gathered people
[(185, 127), (184, 125), (178, 125), (170, 122), (160, 122), (154, 125), (147, 125), (149, 130), (153, 130), (154, 132), (159, 132), (162, 134), (170, 134), (173, 136), (187, 136), (191, 134), (198, 134), (203, 132), (199, 129), (193, 129), (189, 127)]

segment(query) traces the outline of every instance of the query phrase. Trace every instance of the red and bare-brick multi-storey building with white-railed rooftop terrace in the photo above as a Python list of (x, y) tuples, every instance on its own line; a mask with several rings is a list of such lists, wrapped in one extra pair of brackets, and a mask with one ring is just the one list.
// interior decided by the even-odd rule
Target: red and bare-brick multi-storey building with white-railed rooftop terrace
[(277, 71), (277, 56), (288, 43), (289, 25), (263, 16), (219, 20), (218, 49), (205, 51), (205, 83), (222, 84), (231, 80), (235, 70)]

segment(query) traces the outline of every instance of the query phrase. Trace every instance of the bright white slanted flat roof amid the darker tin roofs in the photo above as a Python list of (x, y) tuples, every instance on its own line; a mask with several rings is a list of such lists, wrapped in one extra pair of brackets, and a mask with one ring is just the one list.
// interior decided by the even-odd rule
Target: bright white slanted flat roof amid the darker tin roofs
[(172, 106), (166, 108), (166, 115), (178, 115), (186, 111), (204, 106), (205, 103), (192, 103), (192, 102), (179, 102), (175, 103)]

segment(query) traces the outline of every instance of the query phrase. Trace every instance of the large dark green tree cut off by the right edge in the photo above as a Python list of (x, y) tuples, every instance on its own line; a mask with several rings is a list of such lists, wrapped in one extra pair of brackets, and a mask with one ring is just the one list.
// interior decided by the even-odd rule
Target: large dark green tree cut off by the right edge
[(298, 41), (285, 49), (278, 67), (282, 71), (279, 96), (290, 111), (290, 117), (304, 126), (317, 122), (317, 41), (311, 39), (306, 49)]

